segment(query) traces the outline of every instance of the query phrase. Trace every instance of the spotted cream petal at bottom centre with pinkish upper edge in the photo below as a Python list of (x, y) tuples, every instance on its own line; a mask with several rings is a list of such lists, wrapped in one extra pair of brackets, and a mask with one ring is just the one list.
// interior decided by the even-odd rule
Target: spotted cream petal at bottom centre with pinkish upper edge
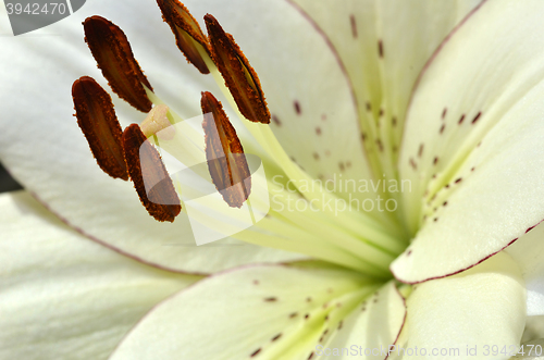
[(156, 307), (112, 359), (308, 359), (378, 287), (332, 268), (239, 268)]

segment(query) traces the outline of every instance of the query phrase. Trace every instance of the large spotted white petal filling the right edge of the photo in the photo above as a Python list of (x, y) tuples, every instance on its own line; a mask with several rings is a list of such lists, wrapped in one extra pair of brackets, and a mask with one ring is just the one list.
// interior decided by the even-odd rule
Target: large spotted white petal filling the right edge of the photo
[(541, 11), (542, 1), (484, 3), (423, 73), (399, 162), (413, 186), (407, 223), (421, 228), (393, 263), (398, 280), (470, 268), (544, 219)]

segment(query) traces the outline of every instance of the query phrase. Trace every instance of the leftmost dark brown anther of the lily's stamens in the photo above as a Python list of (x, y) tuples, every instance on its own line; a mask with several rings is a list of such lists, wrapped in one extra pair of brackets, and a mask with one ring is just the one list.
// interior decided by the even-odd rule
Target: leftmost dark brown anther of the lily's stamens
[(89, 142), (100, 169), (111, 177), (128, 179), (119, 124), (111, 97), (92, 77), (83, 76), (72, 86), (77, 124)]

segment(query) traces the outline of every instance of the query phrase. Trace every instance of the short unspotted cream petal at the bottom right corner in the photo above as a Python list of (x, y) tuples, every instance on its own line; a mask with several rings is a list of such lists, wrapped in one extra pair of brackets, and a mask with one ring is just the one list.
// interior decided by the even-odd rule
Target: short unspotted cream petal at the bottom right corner
[[(398, 346), (418, 347), (419, 356), (409, 359), (509, 359), (526, 324), (523, 278), (505, 252), (461, 274), (417, 285), (407, 306)], [(492, 353), (493, 345), (506, 347), (507, 355)], [(474, 347), (475, 353), (467, 353)]]

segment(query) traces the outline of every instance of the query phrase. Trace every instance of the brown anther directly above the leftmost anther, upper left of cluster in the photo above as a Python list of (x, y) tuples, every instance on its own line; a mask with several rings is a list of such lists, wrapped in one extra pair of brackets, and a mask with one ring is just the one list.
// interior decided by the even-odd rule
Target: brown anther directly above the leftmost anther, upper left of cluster
[(87, 17), (83, 26), (85, 41), (112, 90), (139, 111), (149, 112), (152, 103), (144, 85), (150, 90), (152, 87), (134, 59), (123, 30), (112, 22), (96, 15)]

